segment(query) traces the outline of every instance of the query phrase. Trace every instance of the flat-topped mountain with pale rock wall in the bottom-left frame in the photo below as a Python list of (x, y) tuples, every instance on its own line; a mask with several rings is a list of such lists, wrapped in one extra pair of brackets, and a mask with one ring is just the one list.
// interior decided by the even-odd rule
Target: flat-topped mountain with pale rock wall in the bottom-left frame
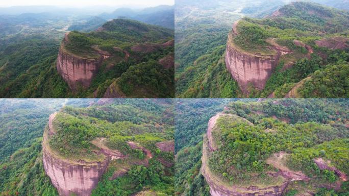
[[(103, 187), (104, 183), (98, 184), (100, 180), (124, 181), (130, 178), (132, 175), (129, 173), (137, 171), (138, 167), (143, 170), (154, 167), (156, 168), (152, 171), (154, 175), (166, 172), (163, 178), (168, 181), (173, 166), (173, 148), (163, 148), (163, 145), (174, 146), (173, 141), (167, 140), (171, 139), (171, 135), (165, 132), (172, 126), (170, 121), (172, 117), (165, 117), (161, 122), (157, 115), (161, 112), (170, 112), (166, 110), (170, 105), (168, 106), (168, 103), (157, 105), (151, 101), (144, 101), (142, 105), (140, 100), (138, 105), (140, 104), (141, 108), (134, 108), (132, 101), (128, 106), (114, 105), (118, 103), (114, 100), (100, 101), (99, 104), (91, 105), (87, 109), (64, 108), (49, 117), (42, 142), (43, 166), (58, 193), (95, 195)], [(147, 111), (146, 108), (151, 105), (158, 106), (158, 110)], [(126, 111), (126, 108), (129, 111)], [(96, 113), (98, 110), (99, 114)], [(110, 118), (110, 115), (116, 113), (138, 113), (140, 116)], [(150, 113), (155, 118), (148, 118), (147, 115)], [(166, 119), (169, 121), (165, 122)], [(142, 123), (137, 124), (138, 120)], [(145, 176), (144, 180), (147, 181), (145, 184), (153, 186), (153, 181), (147, 179)], [(160, 176), (157, 176), (157, 180), (162, 188), (155, 189), (156, 191), (171, 191), (167, 181), (161, 181)], [(143, 189), (139, 183), (130, 181), (127, 186), (119, 183), (117, 191), (129, 195)], [(164, 187), (169, 187), (169, 190)], [(108, 191), (116, 194), (113, 192), (114, 189)]]

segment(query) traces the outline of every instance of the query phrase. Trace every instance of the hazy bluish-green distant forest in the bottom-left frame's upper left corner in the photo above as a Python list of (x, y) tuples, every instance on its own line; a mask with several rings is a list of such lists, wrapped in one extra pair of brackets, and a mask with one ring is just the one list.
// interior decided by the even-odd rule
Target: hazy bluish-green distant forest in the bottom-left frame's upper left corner
[(0, 100), (0, 163), (42, 137), (48, 115), (64, 100)]

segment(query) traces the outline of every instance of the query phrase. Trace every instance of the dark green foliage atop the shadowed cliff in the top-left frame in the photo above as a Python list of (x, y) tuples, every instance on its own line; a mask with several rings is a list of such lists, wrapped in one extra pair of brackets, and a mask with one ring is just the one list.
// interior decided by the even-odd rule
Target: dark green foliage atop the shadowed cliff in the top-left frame
[(114, 19), (90, 33), (72, 31), (68, 34), (65, 48), (78, 56), (98, 58), (92, 46), (97, 45), (101, 50), (118, 55), (113, 47), (128, 49), (137, 43), (163, 43), (173, 39), (173, 30), (145, 24), (129, 19)]

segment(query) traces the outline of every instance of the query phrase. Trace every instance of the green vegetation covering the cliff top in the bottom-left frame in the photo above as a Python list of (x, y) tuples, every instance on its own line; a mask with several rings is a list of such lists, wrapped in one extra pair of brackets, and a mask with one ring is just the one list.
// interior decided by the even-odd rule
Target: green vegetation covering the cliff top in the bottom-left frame
[(89, 108), (65, 107), (56, 115), (57, 133), (49, 138), (49, 144), (66, 158), (99, 160), (101, 157), (93, 153), (96, 146), (91, 141), (106, 138), (104, 144), (109, 148), (143, 159), (143, 153), (132, 150), (127, 141), (159, 154), (155, 143), (173, 139), (171, 113), (170, 102), (151, 100), (122, 100)]

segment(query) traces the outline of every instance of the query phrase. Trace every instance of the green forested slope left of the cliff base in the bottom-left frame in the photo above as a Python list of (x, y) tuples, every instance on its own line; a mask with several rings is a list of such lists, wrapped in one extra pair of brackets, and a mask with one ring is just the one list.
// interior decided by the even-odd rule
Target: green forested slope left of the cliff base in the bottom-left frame
[(58, 195), (43, 168), (41, 142), (37, 138), (0, 164), (0, 195)]

